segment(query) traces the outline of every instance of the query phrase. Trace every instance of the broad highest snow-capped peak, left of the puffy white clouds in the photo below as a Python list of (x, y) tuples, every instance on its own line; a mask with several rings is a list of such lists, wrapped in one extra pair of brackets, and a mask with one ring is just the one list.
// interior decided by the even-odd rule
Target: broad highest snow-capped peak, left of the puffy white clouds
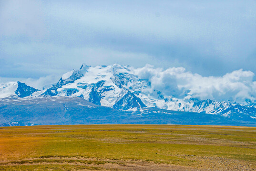
[(41, 92), (40, 96), (79, 96), (97, 105), (128, 110), (146, 107), (134, 94), (136, 89), (143, 87), (147, 87), (146, 82), (140, 80), (130, 66), (83, 64), (79, 70), (64, 74), (56, 85)]

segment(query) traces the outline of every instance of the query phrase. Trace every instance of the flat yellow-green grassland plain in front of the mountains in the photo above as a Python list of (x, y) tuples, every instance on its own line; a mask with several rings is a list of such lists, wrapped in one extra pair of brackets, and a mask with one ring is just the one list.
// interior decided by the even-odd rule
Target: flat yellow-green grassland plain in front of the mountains
[(256, 128), (0, 127), (0, 170), (255, 171)]

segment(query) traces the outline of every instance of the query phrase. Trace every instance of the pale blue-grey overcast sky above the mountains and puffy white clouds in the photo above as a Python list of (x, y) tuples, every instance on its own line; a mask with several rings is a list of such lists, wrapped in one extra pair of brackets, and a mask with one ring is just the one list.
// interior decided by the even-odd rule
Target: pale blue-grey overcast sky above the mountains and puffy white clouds
[(0, 0), (0, 82), (82, 63), (256, 73), (256, 0)]

